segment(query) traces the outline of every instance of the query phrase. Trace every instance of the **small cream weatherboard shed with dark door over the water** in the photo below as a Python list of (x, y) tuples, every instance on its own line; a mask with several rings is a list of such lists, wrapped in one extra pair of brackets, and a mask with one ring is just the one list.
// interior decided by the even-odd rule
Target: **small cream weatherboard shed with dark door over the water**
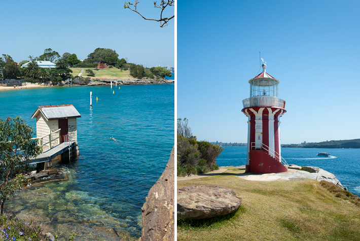
[[(65, 135), (69, 137), (66, 141), (77, 141), (76, 118), (79, 117), (81, 115), (73, 105), (40, 106), (32, 114), (31, 119), (37, 119), (37, 137), (44, 137), (44, 150), (50, 149), (49, 133), (52, 133), (51, 146), (65, 142)], [(61, 129), (60, 133), (57, 131), (58, 129)]]

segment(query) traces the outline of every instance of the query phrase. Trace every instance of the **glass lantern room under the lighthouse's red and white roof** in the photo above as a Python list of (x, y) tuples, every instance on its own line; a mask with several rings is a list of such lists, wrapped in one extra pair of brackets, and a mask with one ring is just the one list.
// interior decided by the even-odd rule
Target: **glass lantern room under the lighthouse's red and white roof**
[(256, 78), (250, 80), (250, 97), (266, 95), (278, 97), (279, 81), (269, 78)]

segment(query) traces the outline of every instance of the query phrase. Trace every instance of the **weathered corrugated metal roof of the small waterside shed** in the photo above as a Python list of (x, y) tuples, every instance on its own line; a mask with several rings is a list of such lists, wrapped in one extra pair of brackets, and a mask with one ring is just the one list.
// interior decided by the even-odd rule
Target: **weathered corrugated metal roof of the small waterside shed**
[(73, 105), (40, 106), (34, 114), (32, 114), (31, 118), (35, 117), (39, 111), (41, 111), (48, 120), (81, 117)]

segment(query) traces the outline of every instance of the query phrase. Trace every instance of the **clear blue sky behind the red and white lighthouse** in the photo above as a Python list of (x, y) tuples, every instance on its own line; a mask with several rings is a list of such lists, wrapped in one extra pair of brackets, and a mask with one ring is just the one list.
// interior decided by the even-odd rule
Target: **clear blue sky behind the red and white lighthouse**
[(242, 100), (267, 73), (286, 101), (281, 143), (360, 138), (359, 1), (178, 1), (177, 117), (198, 140), (247, 142)]

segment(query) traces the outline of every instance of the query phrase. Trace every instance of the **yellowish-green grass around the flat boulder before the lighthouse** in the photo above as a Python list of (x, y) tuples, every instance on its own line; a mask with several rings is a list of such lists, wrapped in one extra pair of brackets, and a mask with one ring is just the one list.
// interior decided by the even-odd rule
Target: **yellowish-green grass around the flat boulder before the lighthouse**
[(360, 208), (316, 180), (248, 181), (244, 170), (178, 181), (177, 188), (215, 185), (242, 198), (235, 214), (206, 220), (177, 219), (177, 240), (360, 240)]

